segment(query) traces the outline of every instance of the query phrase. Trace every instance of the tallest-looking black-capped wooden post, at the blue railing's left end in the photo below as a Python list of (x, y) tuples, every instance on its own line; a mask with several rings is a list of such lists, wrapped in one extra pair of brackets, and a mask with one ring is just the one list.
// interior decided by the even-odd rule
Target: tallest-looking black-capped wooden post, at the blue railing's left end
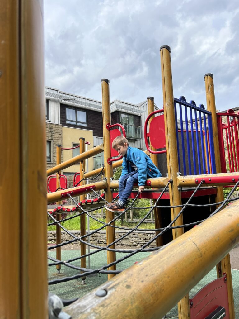
[[(171, 49), (168, 46), (160, 48), (162, 82), (163, 82), (163, 106), (164, 106), (164, 124), (167, 149), (168, 176), (172, 183), (169, 185), (170, 205), (181, 205), (181, 194), (177, 187), (177, 140), (176, 125), (174, 114), (174, 98), (171, 71)], [(171, 218), (174, 219), (179, 213), (180, 208), (171, 208)], [(182, 215), (177, 219), (173, 226), (183, 225)], [(173, 239), (183, 234), (183, 228), (173, 229)], [(178, 274), (180, 276), (180, 273)], [(189, 317), (189, 299), (188, 294), (178, 303), (178, 318), (188, 319)]]

